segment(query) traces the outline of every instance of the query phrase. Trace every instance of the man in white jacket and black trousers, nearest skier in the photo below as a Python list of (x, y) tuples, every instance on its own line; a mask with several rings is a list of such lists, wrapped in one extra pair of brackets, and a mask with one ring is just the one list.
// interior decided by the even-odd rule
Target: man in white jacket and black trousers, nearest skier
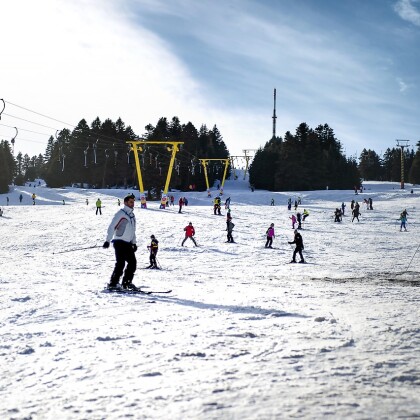
[[(134, 202), (134, 194), (125, 196), (124, 207), (115, 213), (115, 216), (108, 227), (106, 240), (103, 244), (105, 249), (109, 248), (109, 243), (112, 239), (115, 249), (115, 268), (111, 275), (111, 280), (108, 283), (108, 289), (110, 290), (119, 288), (119, 281), (123, 272), (122, 288), (137, 289), (132, 283), (137, 268), (137, 260), (134, 254), (137, 251)], [(125, 263), (127, 263), (126, 267)]]

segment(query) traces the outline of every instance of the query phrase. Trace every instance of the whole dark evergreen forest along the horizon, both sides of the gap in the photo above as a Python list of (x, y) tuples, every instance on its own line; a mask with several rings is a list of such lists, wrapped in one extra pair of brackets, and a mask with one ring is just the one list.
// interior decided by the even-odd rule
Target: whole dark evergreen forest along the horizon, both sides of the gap
[[(51, 136), (44, 154), (13, 156), (10, 143), (0, 142), (0, 193), (9, 185), (23, 185), (36, 178), (50, 187), (77, 185), (89, 188), (138, 188), (134, 152), (127, 141), (165, 142), (142, 145), (139, 162), (149, 199), (160, 198), (168, 173), (171, 143), (183, 142), (176, 154), (170, 188), (204, 191), (206, 182), (200, 159), (207, 162), (210, 185), (221, 180), (229, 150), (217, 126), (197, 129), (177, 117), (148, 124), (140, 136), (120, 118), (96, 118), (90, 125), (82, 119), (72, 130)], [(420, 183), (420, 142), (417, 151), (404, 150), (405, 180)], [(218, 159), (221, 159), (220, 161)], [(227, 176), (230, 176), (231, 166)], [(358, 158), (347, 158), (334, 131), (327, 124), (315, 129), (301, 123), (294, 134), (273, 137), (257, 150), (249, 168), (250, 185), (270, 191), (353, 189), (365, 180), (400, 181), (401, 149), (388, 148), (383, 156), (363, 149)]]

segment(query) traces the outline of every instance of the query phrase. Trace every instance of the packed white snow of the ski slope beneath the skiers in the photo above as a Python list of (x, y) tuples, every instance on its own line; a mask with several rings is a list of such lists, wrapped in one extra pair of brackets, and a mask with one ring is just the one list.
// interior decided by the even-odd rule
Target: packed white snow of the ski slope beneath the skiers
[[(420, 416), (420, 188), (271, 193), (227, 181), (236, 243), (206, 193), (174, 193), (189, 199), (181, 214), (137, 202), (134, 283), (172, 292), (128, 295), (104, 292), (114, 254), (101, 247), (127, 191), (35, 185), (0, 195), (0, 418)], [(299, 196), (307, 264), (289, 264), (287, 199)], [(190, 221), (197, 248), (181, 247)], [(151, 234), (162, 270), (142, 269)]]

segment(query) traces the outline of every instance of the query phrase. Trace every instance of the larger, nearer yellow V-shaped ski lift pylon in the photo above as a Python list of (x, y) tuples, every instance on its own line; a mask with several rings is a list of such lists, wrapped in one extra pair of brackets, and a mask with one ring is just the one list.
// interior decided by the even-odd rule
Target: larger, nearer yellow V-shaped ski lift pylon
[(166, 183), (165, 188), (163, 189), (163, 194), (160, 200), (160, 208), (166, 208), (166, 203), (168, 201), (168, 189), (169, 183), (171, 182), (172, 176), (172, 169), (174, 167), (175, 156), (176, 152), (179, 152), (179, 145), (184, 144), (183, 141), (149, 141), (149, 140), (141, 140), (141, 141), (127, 141), (127, 144), (131, 145), (131, 150), (134, 152), (134, 161), (136, 162), (136, 170), (137, 170), (137, 179), (139, 181), (139, 192), (140, 192), (140, 201), (141, 201), (141, 208), (146, 208), (146, 195), (144, 193), (144, 186), (143, 186), (143, 178), (141, 176), (141, 169), (140, 169), (140, 159), (138, 152), (143, 151), (143, 145), (145, 144), (160, 144), (166, 145), (170, 144), (172, 147), (167, 147), (168, 152), (172, 152), (171, 154), (171, 161), (169, 163), (168, 174), (166, 176)]

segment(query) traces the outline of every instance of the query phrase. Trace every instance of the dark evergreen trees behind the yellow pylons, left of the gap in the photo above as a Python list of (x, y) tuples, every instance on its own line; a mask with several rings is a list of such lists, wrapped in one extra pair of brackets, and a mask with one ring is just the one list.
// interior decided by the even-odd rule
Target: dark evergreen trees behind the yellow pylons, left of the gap
[[(208, 129), (203, 124), (197, 130), (191, 122), (181, 124), (177, 117), (171, 121), (160, 118), (156, 126), (148, 124), (141, 139), (167, 142), (165, 145), (142, 145), (138, 154), (143, 185), (160, 198), (164, 187), (171, 151), (170, 142), (183, 142), (176, 154), (170, 187), (182, 191), (206, 188), (202, 164), (199, 159), (226, 159), (229, 151), (217, 126)], [(139, 140), (130, 126), (119, 118), (113, 122), (96, 118), (90, 125), (82, 119), (72, 130), (63, 129), (50, 137), (44, 155), (29, 158), (19, 153), (15, 159), (9, 151), (9, 165), (2, 165), (5, 173), (3, 192), (13, 180), (16, 185), (35, 178), (45, 179), (49, 187), (74, 185), (90, 188), (138, 188), (134, 152), (127, 141)], [(2, 143), (7, 148), (8, 143)], [(1, 153), (1, 152), (0, 152)], [(209, 182), (220, 179), (224, 166), (221, 161), (208, 164)], [(6, 175), (7, 174), (7, 175)]]

